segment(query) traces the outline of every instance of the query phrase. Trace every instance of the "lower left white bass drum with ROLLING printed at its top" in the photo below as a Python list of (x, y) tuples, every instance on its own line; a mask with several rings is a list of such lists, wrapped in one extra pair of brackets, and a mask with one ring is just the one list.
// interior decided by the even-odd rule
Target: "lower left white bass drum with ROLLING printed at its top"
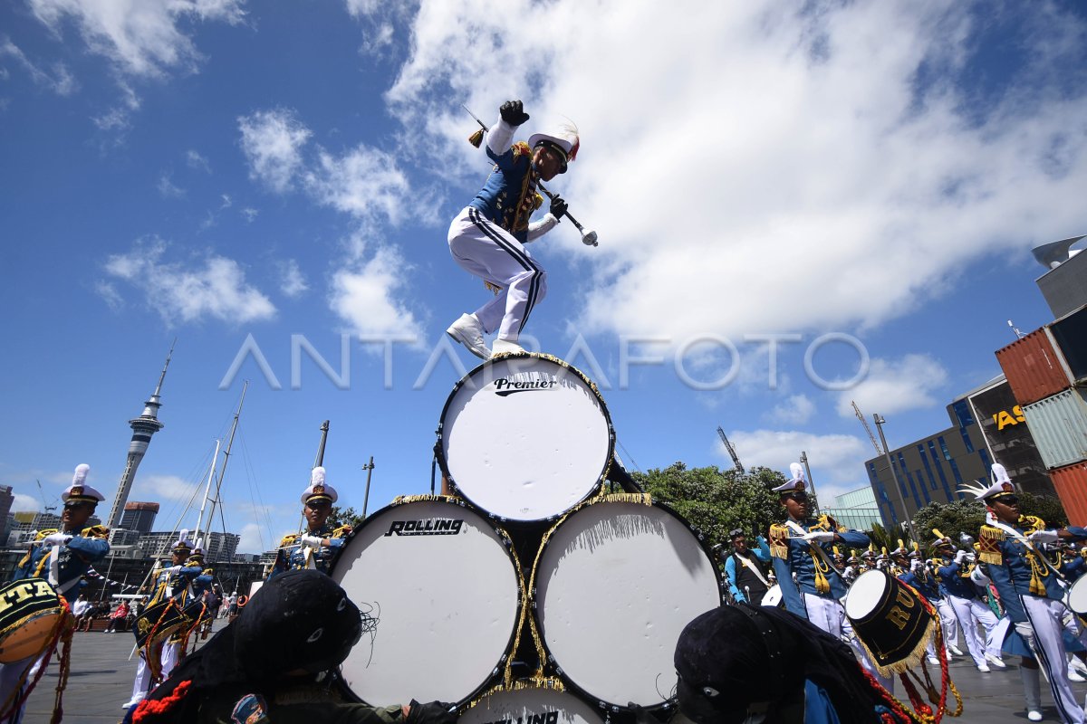
[(386, 707), (482, 691), (523, 606), (509, 548), (503, 531), (455, 498), (393, 503), (366, 518), (329, 573), (363, 612), (362, 639), (340, 671), (349, 694)]

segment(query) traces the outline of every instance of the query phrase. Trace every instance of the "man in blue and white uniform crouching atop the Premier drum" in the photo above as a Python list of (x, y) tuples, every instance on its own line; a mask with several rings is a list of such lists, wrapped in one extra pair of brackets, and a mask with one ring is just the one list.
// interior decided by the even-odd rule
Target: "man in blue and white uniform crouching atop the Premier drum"
[(547, 293), (547, 274), (524, 244), (550, 231), (566, 213), (566, 202), (551, 201), (539, 221), (528, 219), (544, 198), (536, 189), (566, 173), (577, 156), (579, 139), (573, 125), (553, 134), (535, 134), (512, 143), (517, 127), (528, 120), (521, 101), (508, 101), (487, 135), (487, 155), (495, 162), (483, 189), (449, 227), (449, 252), (462, 269), (483, 279), (498, 294), (472, 314), (461, 315), (446, 333), (472, 354), (488, 359), (483, 335), (498, 330), (493, 354), (523, 352), (517, 339), (528, 315)]

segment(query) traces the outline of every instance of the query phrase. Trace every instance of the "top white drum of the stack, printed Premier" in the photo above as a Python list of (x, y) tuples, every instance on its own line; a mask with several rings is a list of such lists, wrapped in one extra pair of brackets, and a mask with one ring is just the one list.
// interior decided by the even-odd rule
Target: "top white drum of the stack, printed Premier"
[(468, 372), (438, 432), (457, 490), (514, 521), (555, 518), (599, 491), (615, 445), (596, 385), (561, 359), (528, 353)]

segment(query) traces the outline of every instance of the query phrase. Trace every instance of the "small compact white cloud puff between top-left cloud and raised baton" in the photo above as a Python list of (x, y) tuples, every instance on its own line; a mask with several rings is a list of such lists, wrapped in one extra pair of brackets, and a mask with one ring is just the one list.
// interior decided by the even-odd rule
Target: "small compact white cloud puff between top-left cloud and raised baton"
[(258, 111), (238, 118), (241, 150), (249, 161), (249, 177), (283, 193), (302, 165), (302, 147), (312, 132), (292, 111)]

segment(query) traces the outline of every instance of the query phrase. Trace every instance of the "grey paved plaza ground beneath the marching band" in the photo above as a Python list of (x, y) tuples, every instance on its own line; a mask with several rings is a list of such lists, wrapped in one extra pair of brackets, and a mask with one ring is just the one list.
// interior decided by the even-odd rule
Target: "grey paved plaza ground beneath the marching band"
[[(216, 628), (223, 622), (216, 622)], [(116, 724), (124, 712), (121, 704), (132, 695), (136, 673), (135, 657), (128, 660), (134, 638), (128, 633), (77, 633), (72, 647), (72, 673), (64, 693), (64, 722), (70, 724)], [(951, 677), (965, 700), (963, 715), (945, 722), (983, 724), (991, 722), (1026, 722), (1023, 710), (1023, 686), (1017, 666), (1009, 658), (1007, 670), (982, 674), (972, 664), (959, 659), (951, 664)], [(57, 687), (58, 666), (53, 662), (30, 696), (27, 724), (49, 722)], [(1074, 685), (1087, 694), (1087, 684)], [(901, 694), (901, 685), (899, 685)], [(1042, 703), (1047, 722), (1059, 722), (1048, 687), (1042, 682)], [(316, 724), (316, 723), (315, 723)]]

